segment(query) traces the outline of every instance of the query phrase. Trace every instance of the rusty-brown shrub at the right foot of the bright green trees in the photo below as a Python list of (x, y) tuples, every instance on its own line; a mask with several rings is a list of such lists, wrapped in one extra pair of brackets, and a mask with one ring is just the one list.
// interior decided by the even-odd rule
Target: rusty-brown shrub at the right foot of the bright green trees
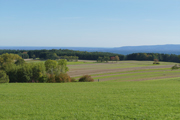
[(66, 73), (60, 73), (59, 75), (56, 75), (55, 80), (57, 83), (71, 82), (70, 76)]

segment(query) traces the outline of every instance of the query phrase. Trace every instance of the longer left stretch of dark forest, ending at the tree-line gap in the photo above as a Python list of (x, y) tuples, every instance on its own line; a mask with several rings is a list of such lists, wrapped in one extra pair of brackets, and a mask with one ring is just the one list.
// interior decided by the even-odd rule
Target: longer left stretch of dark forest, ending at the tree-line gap
[[(86, 51), (74, 51), (67, 49), (52, 49), (52, 50), (0, 50), (0, 55), (4, 53), (18, 54), (22, 58), (40, 58), (40, 59), (57, 59), (61, 56), (77, 56), (82, 60), (97, 60), (98, 57), (104, 56), (119, 56), (121, 60), (124, 59), (124, 55), (108, 53), (108, 52), (86, 52)], [(27, 54), (26, 54), (27, 53)], [(26, 55), (24, 55), (26, 54)]]

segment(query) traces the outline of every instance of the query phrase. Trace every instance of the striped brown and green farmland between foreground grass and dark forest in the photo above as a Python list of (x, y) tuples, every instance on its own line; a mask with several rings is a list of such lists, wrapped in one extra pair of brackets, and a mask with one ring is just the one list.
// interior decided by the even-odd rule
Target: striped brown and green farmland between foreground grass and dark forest
[(175, 63), (160, 62), (153, 65), (152, 61), (120, 61), (109, 63), (68, 65), (71, 77), (79, 78), (89, 74), (95, 81), (141, 81), (180, 77), (179, 70), (171, 70)]

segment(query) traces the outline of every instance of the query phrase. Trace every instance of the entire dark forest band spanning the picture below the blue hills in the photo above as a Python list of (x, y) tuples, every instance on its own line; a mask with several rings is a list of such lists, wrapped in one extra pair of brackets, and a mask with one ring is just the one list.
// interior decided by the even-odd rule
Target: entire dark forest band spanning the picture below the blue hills
[[(18, 54), (22, 58), (40, 58), (40, 59), (59, 59), (65, 58), (69, 61), (77, 59), (107, 61), (112, 57), (118, 56), (120, 60), (150, 60), (158, 59), (165, 62), (180, 62), (178, 55), (175, 54), (160, 54), (160, 53), (132, 53), (121, 55), (108, 52), (86, 52), (74, 51), (68, 49), (52, 49), (52, 50), (0, 50), (0, 55), (4, 53)], [(71, 56), (71, 57), (70, 57)]]

